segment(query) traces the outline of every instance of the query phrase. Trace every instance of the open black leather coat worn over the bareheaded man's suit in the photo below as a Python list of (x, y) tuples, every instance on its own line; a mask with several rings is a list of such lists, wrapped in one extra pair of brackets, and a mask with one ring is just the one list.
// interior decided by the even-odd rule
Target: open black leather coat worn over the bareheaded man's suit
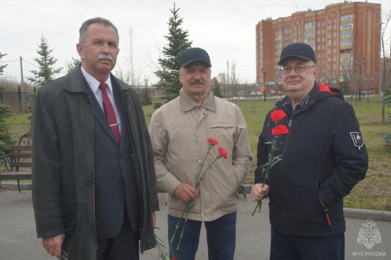
[[(136, 92), (110, 75), (121, 100), (142, 194), (140, 250), (154, 247), (152, 211), (158, 211), (152, 146)], [(37, 92), (32, 117), (32, 197), (39, 238), (65, 233), (72, 259), (96, 259), (93, 108), (80, 65)], [(66, 184), (66, 185), (65, 185)], [(69, 184), (69, 185), (68, 185)]]

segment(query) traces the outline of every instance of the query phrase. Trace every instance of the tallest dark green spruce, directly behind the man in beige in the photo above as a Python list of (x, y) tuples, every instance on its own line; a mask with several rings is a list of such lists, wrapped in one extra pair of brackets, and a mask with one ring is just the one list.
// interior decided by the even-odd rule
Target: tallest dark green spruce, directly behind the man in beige
[(173, 14), (170, 17), (169, 25), (169, 34), (164, 36), (168, 40), (168, 45), (163, 47), (163, 59), (158, 59), (158, 63), (161, 69), (155, 71), (155, 75), (162, 79), (158, 84), (155, 84), (154, 87), (164, 90), (165, 96), (163, 99), (166, 101), (173, 100), (179, 96), (179, 89), (182, 87), (182, 84), (179, 81), (178, 69), (179, 69), (179, 58), (182, 52), (192, 46), (193, 42), (189, 42), (188, 31), (183, 30), (180, 25), (183, 22), (182, 18), (179, 18), (178, 11), (180, 8), (171, 10)]

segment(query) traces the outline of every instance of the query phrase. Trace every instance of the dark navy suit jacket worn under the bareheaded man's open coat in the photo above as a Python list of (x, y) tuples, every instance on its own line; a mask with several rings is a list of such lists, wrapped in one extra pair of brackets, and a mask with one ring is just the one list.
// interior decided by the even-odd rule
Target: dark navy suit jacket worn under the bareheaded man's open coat
[(112, 238), (118, 234), (123, 223), (125, 205), (133, 233), (139, 229), (138, 193), (133, 174), (133, 162), (130, 159), (133, 158), (130, 137), (127, 134), (126, 124), (124, 124), (124, 113), (115, 95), (114, 84), (112, 86), (115, 105), (122, 122), (120, 144), (94, 93), (87, 88), (94, 109), (93, 146), (97, 238)]

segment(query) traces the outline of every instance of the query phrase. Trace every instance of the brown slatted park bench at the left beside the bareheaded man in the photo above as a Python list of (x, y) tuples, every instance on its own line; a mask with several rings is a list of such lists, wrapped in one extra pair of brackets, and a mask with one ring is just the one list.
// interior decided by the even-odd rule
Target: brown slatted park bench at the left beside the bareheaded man
[(31, 180), (31, 134), (25, 133), (18, 145), (9, 147), (10, 153), (0, 156), (0, 183), (2, 180)]

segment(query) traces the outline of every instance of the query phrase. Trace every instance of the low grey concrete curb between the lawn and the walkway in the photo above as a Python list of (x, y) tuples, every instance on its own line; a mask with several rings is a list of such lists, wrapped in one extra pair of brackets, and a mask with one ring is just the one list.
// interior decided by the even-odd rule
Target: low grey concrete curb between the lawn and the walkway
[[(249, 194), (251, 188), (254, 184), (244, 184), (244, 191), (246, 194)], [(1, 188), (18, 190), (17, 182), (1, 182)], [(31, 183), (21, 182), (21, 190), (31, 190)], [(158, 192), (164, 192), (158, 189)], [(354, 217), (354, 218), (362, 218), (362, 219), (373, 219), (373, 220), (385, 220), (391, 221), (391, 212), (388, 211), (379, 211), (379, 210), (363, 210), (363, 209), (352, 209), (352, 208), (344, 208), (344, 216), (345, 217)]]

